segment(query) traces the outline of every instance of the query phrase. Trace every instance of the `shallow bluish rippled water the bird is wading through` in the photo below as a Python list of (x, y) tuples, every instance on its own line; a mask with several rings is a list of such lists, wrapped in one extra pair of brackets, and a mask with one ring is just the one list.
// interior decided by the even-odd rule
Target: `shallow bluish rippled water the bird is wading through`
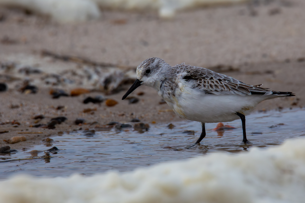
[[(209, 152), (235, 153), (249, 147), (264, 148), (281, 144), (285, 139), (305, 135), (305, 109), (253, 113), (246, 117), (247, 138), (253, 144), (241, 144), (241, 121), (224, 124), (236, 127), (233, 130), (213, 131), (216, 123), (206, 124), (206, 137), (200, 146), (187, 149), (201, 133), (199, 122), (184, 121), (167, 124), (151, 124), (148, 131), (116, 130), (96, 131), (85, 136), (84, 132), (73, 132), (52, 137), (52, 144), (0, 154), (0, 178), (25, 173), (32, 176), (69, 176), (73, 173), (92, 175), (107, 170), (130, 171), (137, 167), (159, 162), (197, 157)], [(272, 126), (272, 127), (271, 127)], [(185, 133), (185, 131), (195, 131)], [(40, 157), (44, 150), (56, 146), (58, 151), (50, 152), (52, 158)], [(39, 150), (39, 153), (29, 153)], [(55, 152), (55, 153), (54, 153)], [(57, 152), (57, 154), (56, 154)]]

